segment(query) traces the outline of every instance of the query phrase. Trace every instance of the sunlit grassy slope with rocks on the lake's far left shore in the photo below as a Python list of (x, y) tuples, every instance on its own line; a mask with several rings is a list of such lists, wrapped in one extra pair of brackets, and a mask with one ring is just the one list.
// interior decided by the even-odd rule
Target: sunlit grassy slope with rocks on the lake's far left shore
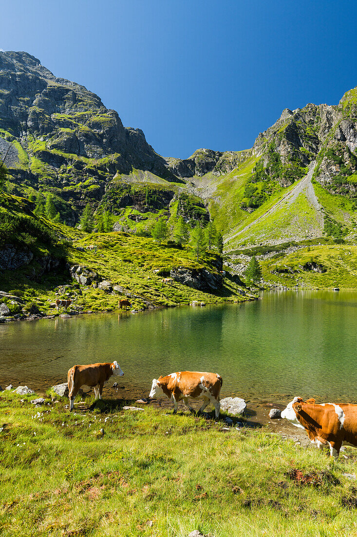
[[(120, 285), (129, 291), (142, 295), (156, 306), (174, 306), (187, 304), (192, 300), (216, 302), (226, 300), (243, 300), (239, 295), (240, 287), (225, 280), (224, 287), (216, 294), (204, 293), (175, 282), (172, 286), (162, 283), (162, 275), (155, 269), (169, 271), (172, 267), (183, 266), (189, 269), (205, 266), (210, 271), (217, 271), (214, 261), (217, 255), (206, 252), (197, 262), (191, 248), (159, 246), (151, 238), (136, 237), (124, 233), (85, 234), (75, 228), (53, 224), (44, 219), (37, 219), (26, 205), (26, 200), (4, 194), (0, 216), (10, 212), (13, 216), (26, 216), (27, 219), (41, 221), (61, 239), (59, 243), (43, 244), (39, 241), (29, 245), (35, 257), (52, 256), (65, 257), (65, 262), (71, 265), (84, 265), (98, 272), (103, 279), (109, 279), (113, 285)], [(1, 201), (1, 200), (0, 200)], [(11, 204), (11, 205), (9, 205)], [(6, 205), (6, 207), (5, 207)], [(24, 211), (27, 211), (25, 214)], [(98, 251), (81, 252), (77, 246), (96, 244)], [(2, 291), (13, 291), (21, 294), (27, 302), (36, 302), (41, 311), (47, 314), (55, 313), (50, 307), (56, 297), (70, 296), (75, 306), (83, 309), (111, 310), (117, 307), (119, 293), (107, 294), (93, 286), (81, 286), (76, 289), (66, 270), (43, 274), (35, 278), (40, 271), (40, 265), (34, 260), (29, 265), (16, 271), (3, 271), (1, 280)], [(65, 294), (56, 295), (57, 286), (71, 285)], [(78, 287), (78, 286), (77, 286)], [(143, 307), (140, 299), (132, 300), (133, 307)]]

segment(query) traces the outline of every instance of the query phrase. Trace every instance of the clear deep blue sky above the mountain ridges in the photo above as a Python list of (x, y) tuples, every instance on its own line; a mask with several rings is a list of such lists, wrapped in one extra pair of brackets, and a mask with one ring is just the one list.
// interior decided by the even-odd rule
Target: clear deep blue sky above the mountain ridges
[(163, 156), (240, 150), (284, 108), (357, 85), (345, 0), (11, 0), (0, 48), (98, 93)]

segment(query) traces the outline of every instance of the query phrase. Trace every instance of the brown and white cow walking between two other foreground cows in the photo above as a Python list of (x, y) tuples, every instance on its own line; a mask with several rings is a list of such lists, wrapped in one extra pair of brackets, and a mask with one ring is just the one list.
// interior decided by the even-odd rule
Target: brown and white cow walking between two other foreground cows
[(219, 394), (222, 387), (222, 377), (217, 373), (202, 373), (198, 371), (178, 371), (167, 376), (153, 379), (149, 397), (154, 399), (166, 395), (174, 403), (174, 414), (177, 412), (178, 401), (183, 399), (190, 412), (188, 398), (203, 398), (203, 405), (198, 413), (203, 412), (208, 404), (212, 403), (215, 417), (219, 417), (221, 404)]

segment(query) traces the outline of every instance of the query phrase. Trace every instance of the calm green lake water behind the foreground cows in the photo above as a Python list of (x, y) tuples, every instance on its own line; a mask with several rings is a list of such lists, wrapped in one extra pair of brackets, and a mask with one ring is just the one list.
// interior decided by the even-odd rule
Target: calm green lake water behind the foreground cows
[[(265, 292), (241, 304), (82, 315), (0, 325), (0, 384), (43, 390), (75, 364), (117, 360), (125, 391), (211, 371), (221, 395), (357, 402), (357, 292)], [(120, 394), (120, 392), (119, 392)]]

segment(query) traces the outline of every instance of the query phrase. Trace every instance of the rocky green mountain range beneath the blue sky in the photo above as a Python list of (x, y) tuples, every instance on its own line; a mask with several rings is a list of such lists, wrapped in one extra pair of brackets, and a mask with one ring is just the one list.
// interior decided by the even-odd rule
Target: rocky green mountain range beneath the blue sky
[(52, 193), (71, 226), (88, 202), (131, 233), (145, 234), (159, 216), (169, 224), (176, 215), (191, 224), (214, 219), (231, 261), (244, 249), (354, 243), (356, 153), (357, 88), (338, 105), (286, 108), (251, 149), (164, 158), (84, 86), (55, 77), (25, 52), (0, 52), (8, 191)]

